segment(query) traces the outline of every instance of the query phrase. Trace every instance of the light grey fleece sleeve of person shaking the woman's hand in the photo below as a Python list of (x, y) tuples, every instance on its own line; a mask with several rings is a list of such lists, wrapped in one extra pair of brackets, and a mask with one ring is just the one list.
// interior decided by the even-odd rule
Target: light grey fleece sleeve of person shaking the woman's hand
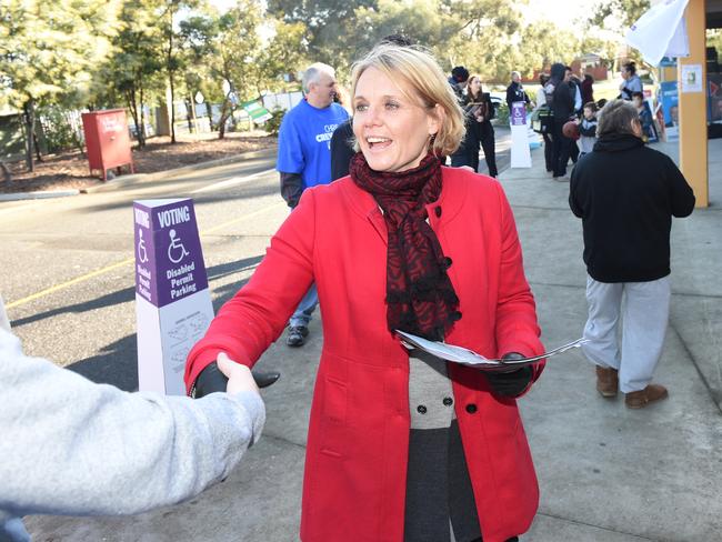
[(0, 330), (0, 510), (114, 515), (224, 479), (265, 420), (260, 397), (127, 393), (22, 354)]

